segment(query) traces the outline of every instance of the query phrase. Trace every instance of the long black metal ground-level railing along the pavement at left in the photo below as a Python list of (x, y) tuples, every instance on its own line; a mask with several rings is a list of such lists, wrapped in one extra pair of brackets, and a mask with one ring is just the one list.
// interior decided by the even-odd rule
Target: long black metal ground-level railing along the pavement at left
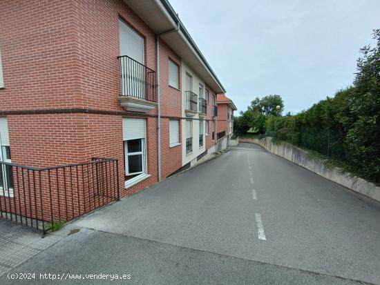
[(47, 168), (0, 161), (0, 166), (8, 168), (8, 177), (1, 177), (0, 217), (44, 233), (53, 222), (68, 222), (120, 199), (117, 159)]

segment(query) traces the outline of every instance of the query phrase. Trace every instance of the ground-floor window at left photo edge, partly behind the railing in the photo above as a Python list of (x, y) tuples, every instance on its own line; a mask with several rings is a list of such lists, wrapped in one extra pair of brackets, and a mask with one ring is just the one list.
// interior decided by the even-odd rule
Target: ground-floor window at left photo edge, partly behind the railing
[[(8, 121), (0, 118), (0, 161), (12, 162), (10, 157)], [(0, 164), (0, 195), (13, 197), (12, 166)]]

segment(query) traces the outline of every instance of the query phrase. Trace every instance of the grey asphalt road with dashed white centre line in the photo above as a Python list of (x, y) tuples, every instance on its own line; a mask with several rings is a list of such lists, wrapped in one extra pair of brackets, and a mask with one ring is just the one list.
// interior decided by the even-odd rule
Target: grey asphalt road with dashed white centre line
[[(70, 228), (80, 231), (67, 236)], [(0, 284), (380, 284), (380, 205), (252, 144), (79, 219), (60, 235), (12, 273), (131, 279), (3, 276)]]

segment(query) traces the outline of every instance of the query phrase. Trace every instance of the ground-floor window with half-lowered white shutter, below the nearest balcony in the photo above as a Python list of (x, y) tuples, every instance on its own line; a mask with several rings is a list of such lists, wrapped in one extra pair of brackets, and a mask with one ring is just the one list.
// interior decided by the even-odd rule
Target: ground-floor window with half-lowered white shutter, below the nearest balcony
[(125, 175), (146, 174), (145, 120), (123, 118)]

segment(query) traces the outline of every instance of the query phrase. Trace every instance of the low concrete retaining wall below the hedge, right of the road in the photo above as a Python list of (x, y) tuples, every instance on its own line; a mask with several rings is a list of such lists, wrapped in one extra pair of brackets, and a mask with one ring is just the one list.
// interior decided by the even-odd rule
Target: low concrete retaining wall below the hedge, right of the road
[(280, 157), (303, 166), (304, 168), (325, 177), (337, 184), (350, 188), (351, 190), (361, 193), (367, 197), (370, 197), (380, 202), (380, 187), (365, 181), (362, 178), (350, 175), (350, 173), (344, 173), (341, 168), (326, 166), (321, 159), (311, 157), (306, 150), (297, 148), (292, 144), (281, 143), (274, 144), (272, 137), (266, 137), (265, 139), (239, 139), (239, 142), (248, 142), (253, 144), (259, 144), (263, 146), (269, 153), (274, 153)]

